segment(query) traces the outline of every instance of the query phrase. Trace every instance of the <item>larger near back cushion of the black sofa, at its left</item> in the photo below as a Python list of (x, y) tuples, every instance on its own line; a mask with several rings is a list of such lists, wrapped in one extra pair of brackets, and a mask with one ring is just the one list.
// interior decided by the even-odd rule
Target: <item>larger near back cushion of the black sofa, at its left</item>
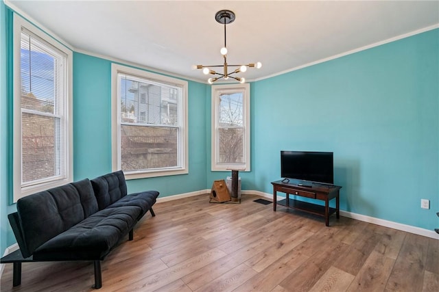
[(93, 187), (87, 178), (25, 196), (17, 201), (16, 209), (25, 242), (20, 246), (24, 257), (98, 211)]

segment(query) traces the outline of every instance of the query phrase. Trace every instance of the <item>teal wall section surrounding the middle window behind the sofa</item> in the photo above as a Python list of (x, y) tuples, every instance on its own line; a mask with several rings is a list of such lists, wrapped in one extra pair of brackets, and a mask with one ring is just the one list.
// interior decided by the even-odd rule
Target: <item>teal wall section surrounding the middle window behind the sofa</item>
[[(73, 55), (75, 181), (112, 171), (111, 64), (82, 53)], [(131, 180), (129, 192), (157, 189), (164, 197), (206, 188), (206, 88), (206, 84), (189, 81), (189, 174)]]

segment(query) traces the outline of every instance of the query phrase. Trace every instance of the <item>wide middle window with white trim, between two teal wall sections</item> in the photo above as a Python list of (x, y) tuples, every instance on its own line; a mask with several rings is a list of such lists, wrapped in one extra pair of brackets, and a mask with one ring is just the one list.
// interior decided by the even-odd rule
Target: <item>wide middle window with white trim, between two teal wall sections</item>
[(112, 64), (112, 168), (187, 174), (187, 82)]

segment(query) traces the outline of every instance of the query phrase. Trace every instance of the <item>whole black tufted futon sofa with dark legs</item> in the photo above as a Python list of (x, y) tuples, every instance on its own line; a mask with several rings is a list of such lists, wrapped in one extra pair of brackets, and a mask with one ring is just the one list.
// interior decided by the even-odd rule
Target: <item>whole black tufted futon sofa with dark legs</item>
[(19, 250), (1, 258), (14, 263), (13, 285), (21, 284), (21, 263), (93, 261), (95, 289), (102, 287), (101, 261), (134, 225), (152, 211), (158, 191), (127, 194), (122, 171), (83, 179), (18, 200), (8, 215)]

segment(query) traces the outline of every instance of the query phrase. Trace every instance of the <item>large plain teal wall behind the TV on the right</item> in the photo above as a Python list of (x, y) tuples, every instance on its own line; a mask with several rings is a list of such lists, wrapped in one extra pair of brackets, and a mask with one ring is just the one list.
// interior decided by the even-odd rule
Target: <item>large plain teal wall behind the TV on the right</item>
[(254, 84), (255, 189), (272, 192), (280, 150), (333, 151), (342, 210), (438, 228), (438, 42), (435, 29)]

